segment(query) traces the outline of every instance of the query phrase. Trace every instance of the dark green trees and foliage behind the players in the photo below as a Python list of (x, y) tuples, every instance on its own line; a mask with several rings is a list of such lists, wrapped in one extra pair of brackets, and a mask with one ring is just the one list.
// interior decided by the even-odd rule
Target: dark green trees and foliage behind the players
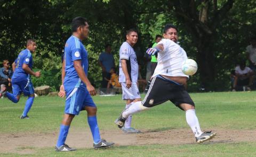
[(35, 38), (34, 67), (42, 69), (43, 76), (33, 82), (51, 85), (53, 91), (60, 85), (60, 55), (76, 16), (89, 21), (90, 37), (84, 45), (89, 51), (89, 79), (97, 87), (101, 80), (97, 60), (104, 45), (111, 43), (118, 66), (119, 47), (130, 28), (139, 30), (134, 49), (145, 76), (145, 50), (166, 23), (178, 26), (180, 45), (199, 67), (188, 82), (192, 91), (202, 85), (208, 91), (229, 90), (229, 72), (239, 59), (246, 60), (245, 48), (256, 35), (256, 2), (246, 0), (1, 0), (0, 7), (0, 60), (13, 62), (26, 39)]

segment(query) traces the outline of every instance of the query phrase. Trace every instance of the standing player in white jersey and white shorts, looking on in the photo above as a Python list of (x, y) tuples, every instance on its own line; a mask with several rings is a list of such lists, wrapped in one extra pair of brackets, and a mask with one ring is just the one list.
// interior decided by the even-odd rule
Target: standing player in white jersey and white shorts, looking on
[[(137, 86), (139, 65), (133, 46), (137, 43), (138, 33), (134, 29), (126, 31), (126, 41), (119, 50), (119, 82), (122, 85), (123, 100), (126, 100), (125, 108), (134, 102), (141, 101)], [(140, 131), (131, 127), (132, 115), (127, 116), (123, 131), (125, 133), (139, 133)]]

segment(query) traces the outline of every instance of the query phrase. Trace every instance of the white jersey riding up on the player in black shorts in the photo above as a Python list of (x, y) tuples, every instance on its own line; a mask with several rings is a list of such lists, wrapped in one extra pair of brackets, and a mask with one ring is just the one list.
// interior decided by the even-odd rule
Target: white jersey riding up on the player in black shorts
[(157, 45), (161, 43), (164, 50), (158, 53), (153, 77), (156, 75), (189, 77), (181, 71), (182, 63), (188, 59), (186, 51), (170, 39), (162, 39)]

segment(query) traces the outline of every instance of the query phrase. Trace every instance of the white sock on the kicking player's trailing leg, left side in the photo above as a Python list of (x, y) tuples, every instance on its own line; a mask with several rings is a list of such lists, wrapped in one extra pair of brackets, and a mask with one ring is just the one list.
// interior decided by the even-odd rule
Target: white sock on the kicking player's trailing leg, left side
[(127, 108), (124, 112), (123, 112), (123, 117), (127, 118), (129, 115), (133, 115), (137, 112), (140, 112), (142, 110), (147, 110), (149, 109), (148, 107), (144, 107), (141, 105), (141, 101), (137, 101), (134, 102), (129, 108)]

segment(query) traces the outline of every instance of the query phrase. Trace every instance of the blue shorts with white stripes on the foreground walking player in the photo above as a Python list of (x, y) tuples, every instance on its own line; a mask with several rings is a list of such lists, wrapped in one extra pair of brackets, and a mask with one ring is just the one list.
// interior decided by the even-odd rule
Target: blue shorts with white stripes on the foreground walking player
[(87, 90), (81, 88), (68, 89), (66, 94), (65, 114), (79, 115), (79, 112), (84, 110), (86, 106), (96, 107)]

